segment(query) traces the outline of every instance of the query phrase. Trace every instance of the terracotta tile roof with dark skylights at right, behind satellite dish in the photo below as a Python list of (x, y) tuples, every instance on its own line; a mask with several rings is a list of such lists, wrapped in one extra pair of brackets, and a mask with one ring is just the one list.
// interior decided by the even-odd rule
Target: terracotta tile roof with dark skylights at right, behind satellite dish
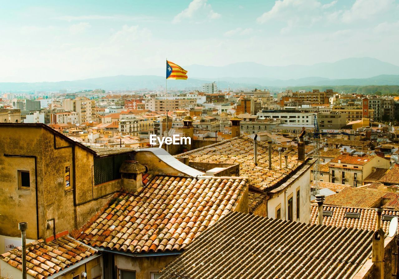
[[(354, 208), (354, 207), (340, 207), (340, 206), (323, 206), (323, 211), (331, 211), (331, 216), (323, 217), (323, 225), (354, 228), (354, 229), (367, 229), (374, 231), (377, 225), (377, 212), (374, 208)], [(359, 218), (345, 217), (345, 213), (359, 213)], [(383, 215), (399, 216), (399, 211), (383, 210), (381, 214), (381, 227), (384, 232), (388, 231), (389, 223), (391, 220), (383, 220)], [(310, 206), (310, 224), (317, 224), (318, 206), (312, 204)]]

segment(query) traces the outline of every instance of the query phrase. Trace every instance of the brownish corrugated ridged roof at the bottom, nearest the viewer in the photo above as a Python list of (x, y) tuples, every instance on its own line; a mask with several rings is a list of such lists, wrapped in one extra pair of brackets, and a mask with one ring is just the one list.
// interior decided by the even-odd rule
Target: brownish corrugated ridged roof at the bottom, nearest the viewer
[(161, 279), (352, 278), (372, 231), (231, 212), (162, 269)]

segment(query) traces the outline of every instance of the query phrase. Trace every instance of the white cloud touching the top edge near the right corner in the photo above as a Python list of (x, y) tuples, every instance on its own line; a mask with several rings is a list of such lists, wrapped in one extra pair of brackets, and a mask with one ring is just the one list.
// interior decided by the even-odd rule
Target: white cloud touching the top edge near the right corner
[(391, 8), (394, 8), (393, 0), (356, 0), (352, 8), (342, 14), (342, 21), (350, 23), (364, 20)]

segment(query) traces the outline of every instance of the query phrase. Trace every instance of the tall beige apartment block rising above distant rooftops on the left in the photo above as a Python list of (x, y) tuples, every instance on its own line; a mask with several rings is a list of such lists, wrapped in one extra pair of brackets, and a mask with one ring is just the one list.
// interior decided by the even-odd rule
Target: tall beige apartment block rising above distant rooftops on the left
[(63, 106), (65, 110), (77, 112), (79, 124), (95, 119), (95, 100), (90, 100), (85, 97), (76, 97), (75, 100), (64, 100)]

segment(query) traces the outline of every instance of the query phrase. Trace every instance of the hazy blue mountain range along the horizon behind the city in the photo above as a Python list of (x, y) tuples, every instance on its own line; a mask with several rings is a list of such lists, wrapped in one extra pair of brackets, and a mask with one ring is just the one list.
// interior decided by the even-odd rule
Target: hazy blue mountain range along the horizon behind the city
[[(214, 81), (220, 85), (220, 89), (399, 85), (399, 67), (374, 58), (348, 58), (334, 63), (319, 63), (312, 66), (280, 67), (243, 62), (223, 67), (192, 65), (187, 66), (186, 69), (188, 70), (188, 80), (168, 80), (168, 89), (199, 89), (203, 83)], [(196, 76), (199, 78), (194, 78)], [(61, 89), (77, 91), (96, 88), (156, 90), (165, 88), (165, 77), (120, 75), (61, 82), (0, 83), (0, 92), (58, 91)]]

